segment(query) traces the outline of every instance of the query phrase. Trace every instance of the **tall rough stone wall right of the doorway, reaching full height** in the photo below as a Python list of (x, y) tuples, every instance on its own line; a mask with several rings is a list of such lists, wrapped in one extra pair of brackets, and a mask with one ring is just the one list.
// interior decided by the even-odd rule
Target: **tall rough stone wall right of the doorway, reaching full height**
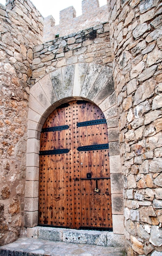
[(162, 255), (162, 4), (109, 2), (128, 256)]

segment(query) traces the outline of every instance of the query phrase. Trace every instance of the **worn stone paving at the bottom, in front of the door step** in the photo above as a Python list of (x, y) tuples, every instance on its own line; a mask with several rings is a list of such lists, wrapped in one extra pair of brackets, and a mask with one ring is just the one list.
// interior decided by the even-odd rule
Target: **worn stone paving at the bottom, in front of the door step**
[(125, 256), (121, 247), (84, 245), (33, 238), (19, 238), (0, 247), (0, 256)]

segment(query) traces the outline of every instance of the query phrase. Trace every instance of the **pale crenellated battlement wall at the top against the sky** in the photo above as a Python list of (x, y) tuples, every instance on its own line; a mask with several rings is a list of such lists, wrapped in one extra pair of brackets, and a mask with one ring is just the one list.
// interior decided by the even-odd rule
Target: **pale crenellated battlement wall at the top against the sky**
[(44, 19), (44, 43), (59, 37), (73, 34), (101, 23), (108, 22), (107, 5), (99, 7), (99, 0), (82, 0), (82, 15), (76, 17), (73, 6), (60, 11), (60, 24), (55, 26), (55, 19)]

